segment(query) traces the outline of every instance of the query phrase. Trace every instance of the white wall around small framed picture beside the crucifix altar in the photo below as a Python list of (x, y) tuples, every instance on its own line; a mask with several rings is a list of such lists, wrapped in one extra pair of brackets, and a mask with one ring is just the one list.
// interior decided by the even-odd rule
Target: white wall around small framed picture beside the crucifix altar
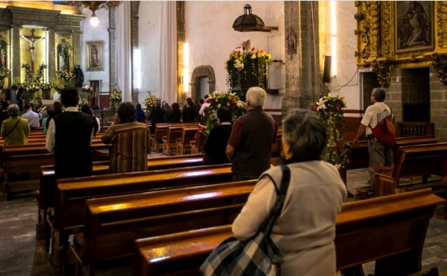
[[(110, 87), (110, 43), (109, 43), (109, 12), (108, 10), (96, 10), (99, 24), (96, 27), (91, 26), (89, 20), (91, 10), (85, 8), (82, 13), (87, 15), (81, 22), (81, 68), (84, 72), (84, 83), (88, 85), (89, 80), (102, 80), (101, 92), (108, 92)], [(103, 71), (87, 71), (87, 41), (103, 42)]]

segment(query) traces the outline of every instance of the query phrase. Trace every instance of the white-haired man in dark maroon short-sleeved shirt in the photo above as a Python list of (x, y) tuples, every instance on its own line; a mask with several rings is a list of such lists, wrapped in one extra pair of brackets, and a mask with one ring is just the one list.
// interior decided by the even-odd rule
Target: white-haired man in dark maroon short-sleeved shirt
[(233, 181), (257, 179), (270, 168), (278, 127), (263, 110), (266, 95), (261, 87), (251, 87), (245, 100), (247, 112), (233, 126), (226, 147), (226, 156), (233, 163)]

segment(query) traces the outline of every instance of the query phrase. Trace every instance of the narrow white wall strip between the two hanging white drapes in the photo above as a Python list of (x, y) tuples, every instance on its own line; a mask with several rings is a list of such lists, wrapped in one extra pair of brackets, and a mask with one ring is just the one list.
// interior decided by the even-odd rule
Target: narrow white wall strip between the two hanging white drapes
[(160, 2), (140, 1), (138, 17), (138, 48), (142, 72), (138, 101), (142, 103), (148, 91), (160, 97)]

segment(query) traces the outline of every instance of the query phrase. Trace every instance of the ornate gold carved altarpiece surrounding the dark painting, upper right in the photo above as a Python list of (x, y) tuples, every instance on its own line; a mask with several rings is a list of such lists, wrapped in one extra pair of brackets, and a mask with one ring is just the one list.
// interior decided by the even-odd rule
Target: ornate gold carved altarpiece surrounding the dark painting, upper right
[(355, 1), (357, 65), (383, 87), (392, 67), (434, 66), (447, 85), (447, 1)]

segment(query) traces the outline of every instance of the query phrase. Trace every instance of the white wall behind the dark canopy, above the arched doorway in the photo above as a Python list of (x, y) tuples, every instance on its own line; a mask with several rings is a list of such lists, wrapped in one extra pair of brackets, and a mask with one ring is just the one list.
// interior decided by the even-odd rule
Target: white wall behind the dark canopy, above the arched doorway
[[(233, 22), (244, 13), (247, 3), (251, 5), (252, 13), (261, 17), (266, 26), (279, 27), (279, 30), (270, 33), (234, 31)], [(189, 72), (192, 73), (197, 66), (212, 66), (217, 90), (221, 92), (228, 91), (223, 63), (242, 41), (250, 39), (251, 47), (268, 52), (272, 50), (275, 55), (273, 59), (284, 60), (284, 50), (278, 51), (274, 45), (271, 45), (272, 49), (269, 48), (269, 40), (284, 43), (283, 1), (186, 1), (185, 21), (186, 42), (189, 42), (191, 57)], [(279, 39), (274, 38), (277, 36)], [(191, 76), (189, 80), (191, 82)]]

